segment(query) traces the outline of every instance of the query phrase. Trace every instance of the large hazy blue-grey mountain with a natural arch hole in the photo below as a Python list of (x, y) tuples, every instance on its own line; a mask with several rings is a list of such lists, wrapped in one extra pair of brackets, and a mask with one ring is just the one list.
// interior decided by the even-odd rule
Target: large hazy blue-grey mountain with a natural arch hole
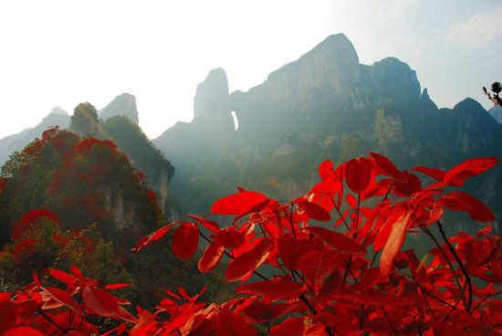
[[(401, 169), (445, 169), (470, 157), (497, 156), (501, 133), (476, 100), (438, 109), (407, 64), (383, 58), (363, 65), (350, 40), (338, 34), (246, 92), (229, 93), (225, 71), (210, 71), (197, 87), (193, 121), (178, 122), (153, 143), (176, 166), (173, 193), (188, 212), (204, 214), (235, 185), (278, 199), (297, 197), (327, 159), (341, 163), (381, 152)], [(478, 196), (502, 210), (497, 172), (486, 177)]]

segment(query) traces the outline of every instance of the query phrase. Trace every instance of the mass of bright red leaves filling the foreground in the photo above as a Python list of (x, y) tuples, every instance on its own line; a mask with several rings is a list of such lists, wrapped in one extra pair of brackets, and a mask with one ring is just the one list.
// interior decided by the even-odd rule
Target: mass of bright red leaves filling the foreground
[[(123, 309), (123, 299), (106, 290), (122, 284), (103, 289), (78, 268), (72, 269), (73, 275), (51, 270), (67, 289), (41, 287), (36, 278), (16, 293), (16, 299), (0, 295), (0, 309), (9, 317), (0, 320), (0, 331), (16, 334), (21, 332), (16, 328), (26, 327), (50, 334), (58, 322), (47, 329), (35, 327), (48, 317), (61, 320), (58, 326), (65, 332), (99, 333), (86, 322), (88, 315), (99, 315), (131, 322), (130, 327), (121, 324), (113, 331), (120, 334), (131, 328), (134, 335), (258, 335), (255, 324), (261, 322), (268, 324), (273, 336), (500, 335), (502, 238), (489, 236), (490, 226), (481, 228), (476, 237), (458, 233), (447, 238), (440, 221), (445, 208), (465, 211), (479, 222), (495, 219), (486, 205), (468, 194), (444, 194), (446, 185), (464, 184), (495, 163), (493, 158), (474, 159), (449, 172), (416, 167), (413, 171), (437, 181), (423, 187), (415, 174), (370, 153), (336, 171), (332, 163), (322, 163), (322, 181), (288, 203), (239, 189), (216, 201), (211, 210), (234, 216), (231, 226), (220, 228), (213, 220), (191, 215), (194, 223), (164, 226), (132, 249), (148, 247), (176, 226), (173, 251), (186, 258), (193, 256), (198, 236), (203, 236), (209, 245), (199, 262), (202, 272), (211, 271), (225, 254), (231, 258), (227, 281), (246, 281), (253, 274), (261, 278), (238, 286), (233, 299), (197, 303), (202, 292), (190, 297), (180, 288), (180, 295), (166, 291), (169, 297), (162, 299), (155, 313), (138, 309), (135, 318)], [(379, 199), (367, 202), (373, 197)], [(340, 211), (343, 199), (350, 206), (345, 214)], [(339, 218), (335, 221), (333, 216)], [(311, 220), (329, 221), (344, 230), (312, 226)], [(427, 228), (433, 224), (441, 238)], [(212, 235), (205, 236), (199, 225)], [(401, 251), (406, 234), (416, 230), (437, 244), (430, 251), (434, 256), (430, 264), (425, 258), (420, 261), (413, 250)], [(373, 266), (379, 254), (380, 265)], [(259, 272), (267, 264), (277, 269), (274, 278)], [(42, 307), (52, 311), (37, 314)], [(293, 317), (285, 319), (285, 314)], [(81, 322), (80, 327), (69, 323), (69, 317)]]

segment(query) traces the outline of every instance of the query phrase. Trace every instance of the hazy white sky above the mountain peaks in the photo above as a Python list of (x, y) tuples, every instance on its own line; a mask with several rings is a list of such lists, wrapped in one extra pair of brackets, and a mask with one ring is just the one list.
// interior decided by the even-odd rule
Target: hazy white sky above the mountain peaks
[(439, 107), (490, 108), (481, 87), (502, 81), (501, 17), (500, 0), (2, 1), (0, 138), (122, 92), (155, 138), (193, 119), (212, 68), (247, 90), (336, 33), (363, 64), (408, 63)]

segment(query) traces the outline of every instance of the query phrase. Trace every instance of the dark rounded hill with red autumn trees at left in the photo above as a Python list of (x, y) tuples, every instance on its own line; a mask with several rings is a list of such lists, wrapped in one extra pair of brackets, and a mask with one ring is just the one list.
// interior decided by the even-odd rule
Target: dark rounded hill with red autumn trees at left
[[(139, 128), (122, 116), (112, 120)], [(140, 149), (150, 145), (133, 140)], [(114, 142), (57, 128), (12, 155), (0, 176), (3, 288), (18, 289), (32, 280), (32, 271), (69, 272), (75, 265), (93, 278), (130, 283), (128, 299), (149, 310), (162, 289), (195, 293), (208, 284), (206, 299), (227, 295), (219, 274), (199, 272), (196, 257), (175, 257), (167, 239), (131, 255), (141, 236), (167, 224), (145, 181)]]

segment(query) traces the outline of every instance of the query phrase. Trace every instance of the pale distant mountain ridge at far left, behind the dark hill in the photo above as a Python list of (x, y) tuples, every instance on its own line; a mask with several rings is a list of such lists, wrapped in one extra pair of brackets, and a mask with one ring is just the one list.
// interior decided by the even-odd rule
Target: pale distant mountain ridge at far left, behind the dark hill
[(0, 165), (4, 164), (9, 155), (25, 148), (26, 144), (42, 137), (42, 132), (52, 126), (65, 129), (69, 125), (70, 116), (66, 110), (55, 107), (34, 128), (27, 128), (17, 134), (0, 139)]

